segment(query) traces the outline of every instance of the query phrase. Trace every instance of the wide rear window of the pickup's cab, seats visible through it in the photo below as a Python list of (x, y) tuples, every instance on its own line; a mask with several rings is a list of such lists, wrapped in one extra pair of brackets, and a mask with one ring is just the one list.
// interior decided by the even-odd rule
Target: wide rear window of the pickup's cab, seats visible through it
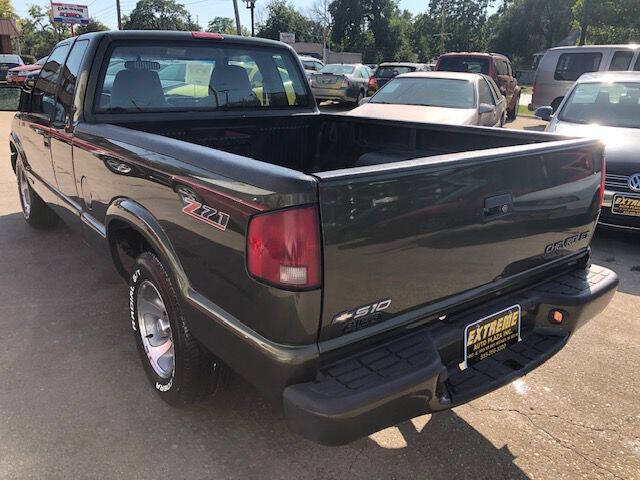
[(277, 48), (122, 45), (102, 68), (97, 113), (307, 107), (297, 62)]

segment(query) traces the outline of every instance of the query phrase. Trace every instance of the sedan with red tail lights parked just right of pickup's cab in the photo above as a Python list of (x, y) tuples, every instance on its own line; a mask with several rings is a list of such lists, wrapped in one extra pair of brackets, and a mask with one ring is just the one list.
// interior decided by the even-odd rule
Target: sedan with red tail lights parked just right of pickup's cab
[(370, 70), (362, 64), (332, 63), (309, 77), (318, 102), (336, 100), (356, 105), (367, 96)]

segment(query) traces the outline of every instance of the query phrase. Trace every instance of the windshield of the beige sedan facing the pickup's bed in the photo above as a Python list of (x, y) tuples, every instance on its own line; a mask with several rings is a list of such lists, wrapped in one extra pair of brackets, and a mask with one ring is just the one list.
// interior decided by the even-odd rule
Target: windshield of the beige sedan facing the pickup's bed
[(474, 108), (473, 84), (449, 78), (394, 78), (371, 98), (370, 103)]

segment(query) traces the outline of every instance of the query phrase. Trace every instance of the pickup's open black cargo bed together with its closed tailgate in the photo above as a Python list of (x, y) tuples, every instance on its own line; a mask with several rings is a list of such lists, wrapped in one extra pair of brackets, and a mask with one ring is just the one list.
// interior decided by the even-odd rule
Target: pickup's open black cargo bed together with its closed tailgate
[[(316, 179), (325, 349), (575, 261), (599, 212), (602, 150), (592, 140), (341, 115), (126, 126)], [(380, 302), (388, 308), (356, 320)]]

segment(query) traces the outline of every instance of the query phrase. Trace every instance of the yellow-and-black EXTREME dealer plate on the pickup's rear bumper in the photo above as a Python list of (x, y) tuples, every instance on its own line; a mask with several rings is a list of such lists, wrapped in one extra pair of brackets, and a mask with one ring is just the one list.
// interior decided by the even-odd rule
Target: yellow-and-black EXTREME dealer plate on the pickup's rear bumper
[(464, 363), (467, 368), (501, 352), (520, 338), (520, 305), (513, 305), (467, 325), (464, 330)]

